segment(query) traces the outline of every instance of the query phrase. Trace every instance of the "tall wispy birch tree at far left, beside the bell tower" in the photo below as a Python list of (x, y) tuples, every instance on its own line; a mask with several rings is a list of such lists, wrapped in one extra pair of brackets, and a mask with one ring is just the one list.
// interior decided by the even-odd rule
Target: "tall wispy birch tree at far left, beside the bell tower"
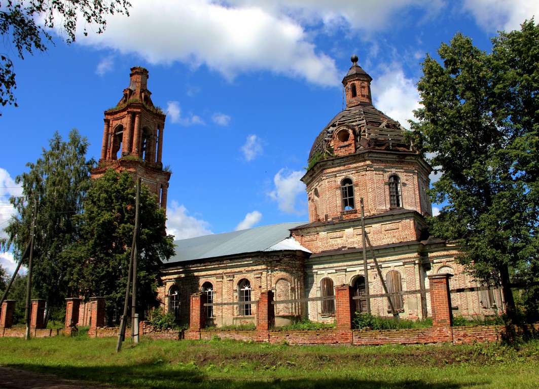
[[(89, 170), (94, 161), (85, 158), (86, 138), (72, 130), (67, 142), (56, 133), (49, 141), (49, 150), (43, 149), (36, 163), (28, 163), (29, 172), (15, 178), (22, 184), (23, 195), (12, 197), (17, 210), (4, 231), (8, 238), (0, 241), (0, 248), (13, 247), (19, 260), (30, 241), (34, 200), (38, 204), (36, 239), (33, 254), (33, 290), (49, 305), (63, 306), (69, 284), (67, 277), (71, 261), (61, 252), (79, 237), (74, 218), (82, 212), (83, 200), (89, 186)], [(27, 264), (27, 259), (25, 260)]]

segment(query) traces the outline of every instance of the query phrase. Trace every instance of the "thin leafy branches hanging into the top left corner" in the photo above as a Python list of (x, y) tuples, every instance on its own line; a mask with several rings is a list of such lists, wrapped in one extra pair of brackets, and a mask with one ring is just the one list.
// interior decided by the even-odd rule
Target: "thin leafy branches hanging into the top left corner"
[[(113, 13), (126, 13), (131, 4), (127, 0), (8, 0), (0, 9), (0, 33), (8, 50), (15, 46), (17, 55), (24, 59), (26, 53), (46, 51), (52, 44), (51, 29), (57, 28), (66, 34), (66, 41), (75, 41), (77, 22), (84, 20), (96, 33), (107, 25), (106, 17)], [(16, 88), (13, 61), (8, 54), (0, 53), (0, 105), (15, 104)], [(1, 113), (0, 113), (1, 115)]]

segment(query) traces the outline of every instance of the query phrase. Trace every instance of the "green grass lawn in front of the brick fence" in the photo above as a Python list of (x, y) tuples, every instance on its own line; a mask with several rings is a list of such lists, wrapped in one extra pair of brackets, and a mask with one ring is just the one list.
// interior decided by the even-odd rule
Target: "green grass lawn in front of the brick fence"
[(0, 338), (0, 365), (132, 388), (539, 387), (539, 341), (510, 348), (143, 340), (126, 341), (119, 354), (115, 346), (116, 338), (82, 335)]

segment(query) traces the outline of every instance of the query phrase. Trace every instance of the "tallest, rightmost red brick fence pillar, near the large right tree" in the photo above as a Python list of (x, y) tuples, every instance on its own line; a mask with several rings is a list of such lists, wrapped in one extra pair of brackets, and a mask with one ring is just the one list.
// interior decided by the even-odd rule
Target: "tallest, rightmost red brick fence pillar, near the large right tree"
[(431, 290), (432, 324), (434, 327), (451, 327), (451, 295), (449, 293), (449, 277), (452, 274), (433, 274), (429, 276)]

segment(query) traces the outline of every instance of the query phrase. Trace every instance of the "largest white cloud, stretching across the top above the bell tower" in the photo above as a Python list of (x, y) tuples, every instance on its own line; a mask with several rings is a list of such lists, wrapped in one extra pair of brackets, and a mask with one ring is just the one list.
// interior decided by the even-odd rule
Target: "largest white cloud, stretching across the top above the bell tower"
[(105, 33), (88, 34), (77, 42), (135, 53), (150, 64), (205, 65), (229, 80), (242, 72), (269, 71), (338, 85), (334, 59), (317, 52), (310, 33), (292, 16), (269, 12), (260, 4), (222, 5), (210, 0), (132, 4), (129, 17), (109, 16)]

